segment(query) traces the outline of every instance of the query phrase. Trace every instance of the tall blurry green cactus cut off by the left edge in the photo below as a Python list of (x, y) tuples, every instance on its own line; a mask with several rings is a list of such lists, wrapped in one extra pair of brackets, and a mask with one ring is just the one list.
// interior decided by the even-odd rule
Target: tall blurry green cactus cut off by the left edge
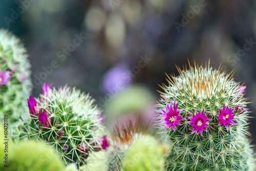
[(20, 40), (6, 30), (0, 29), (0, 123), (8, 115), (9, 136), (17, 127), (28, 121), (26, 98), (32, 83), (30, 64), (26, 49)]

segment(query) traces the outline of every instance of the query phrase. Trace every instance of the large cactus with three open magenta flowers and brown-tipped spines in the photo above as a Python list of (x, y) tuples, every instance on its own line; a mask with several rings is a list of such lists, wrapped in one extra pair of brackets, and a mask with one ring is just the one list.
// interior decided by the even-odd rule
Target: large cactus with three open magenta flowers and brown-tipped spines
[(157, 104), (166, 170), (255, 170), (245, 86), (209, 64), (178, 71), (167, 75)]

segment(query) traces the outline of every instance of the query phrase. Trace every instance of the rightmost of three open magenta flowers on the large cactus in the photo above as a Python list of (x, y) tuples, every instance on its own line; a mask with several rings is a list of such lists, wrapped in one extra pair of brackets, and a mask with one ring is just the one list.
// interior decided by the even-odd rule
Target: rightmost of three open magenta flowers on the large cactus
[(224, 125), (227, 129), (228, 132), (228, 125), (234, 124), (236, 125), (236, 123), (234, 123), (232, 120), (236, 120), (236, 118), (234, 118), (235, 115), (233, 115), (233, 110), (234, 109), (225, 109), (225, 104), (223, 106), (223, 109), (220, 110), (219, 109), (219, 116), (217, 116), (217, 118), (219, 119), (220, 123), (219, 125)]

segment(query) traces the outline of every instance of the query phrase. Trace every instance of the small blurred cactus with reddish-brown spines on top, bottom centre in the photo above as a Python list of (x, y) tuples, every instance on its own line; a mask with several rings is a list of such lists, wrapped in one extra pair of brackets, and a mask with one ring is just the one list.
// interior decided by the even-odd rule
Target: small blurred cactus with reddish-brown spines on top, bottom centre
[(144, 137), (148, 127), (142, 128), (142, 120), (132, 122), (119, 120), (111, 130), (110, 147), (108, 149), (108, 163), (110, 170), (121, 170), (122, 160), (130, 147)]

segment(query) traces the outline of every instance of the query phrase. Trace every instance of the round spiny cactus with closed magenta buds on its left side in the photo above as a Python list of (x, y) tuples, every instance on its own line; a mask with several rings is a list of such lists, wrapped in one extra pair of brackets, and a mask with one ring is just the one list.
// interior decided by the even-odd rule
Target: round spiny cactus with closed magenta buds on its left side
[(32, 123), (25, 126), (21, 137), (55, 147), (67, 165), (74, 162), (80, 167), (87, 163), (90, 153), (108, 148), (101, 110), (88, 94), (43, 84), (40, 98), (30, 96), (28, 106)]

